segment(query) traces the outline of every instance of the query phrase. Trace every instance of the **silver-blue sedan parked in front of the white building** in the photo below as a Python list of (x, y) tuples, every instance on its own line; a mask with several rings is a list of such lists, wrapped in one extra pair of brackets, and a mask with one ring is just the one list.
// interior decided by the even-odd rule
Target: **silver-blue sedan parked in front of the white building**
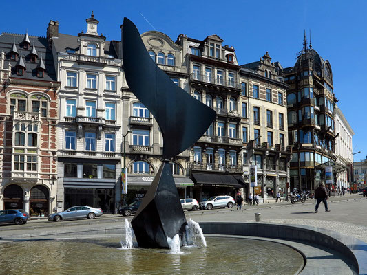
[(49, 221), (66, 221), (67, 219), (94, 219), (103, 215), (101, 208), (94, 208), (90, 206), (73, 206), (69, 209), (50, 214), (48, 216)]

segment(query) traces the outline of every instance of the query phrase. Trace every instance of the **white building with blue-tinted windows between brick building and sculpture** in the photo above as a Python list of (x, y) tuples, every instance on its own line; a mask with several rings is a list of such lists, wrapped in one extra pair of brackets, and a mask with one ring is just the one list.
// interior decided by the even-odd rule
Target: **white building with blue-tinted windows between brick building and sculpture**
[(98, 20), (87, 31), (59, 33), (50, 21), (59, 90), (57, 123), (57, 210), (75, 205), (115, 212), (121, 203), (123, 107), (120, 41), (98, 34)]

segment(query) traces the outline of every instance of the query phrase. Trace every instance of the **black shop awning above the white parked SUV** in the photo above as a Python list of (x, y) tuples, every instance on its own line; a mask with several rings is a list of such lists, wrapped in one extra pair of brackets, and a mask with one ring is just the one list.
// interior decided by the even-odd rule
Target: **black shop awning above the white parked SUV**
[[(218, 187), (243, 187), (244, 182), (233, 175), (218, 175), (209, 173), (192, 173), (196, 184), (218, 186)], [(240, 176), (238, 176), (240, 177)], [(242, 184), (243, 182), (243, 184)]]

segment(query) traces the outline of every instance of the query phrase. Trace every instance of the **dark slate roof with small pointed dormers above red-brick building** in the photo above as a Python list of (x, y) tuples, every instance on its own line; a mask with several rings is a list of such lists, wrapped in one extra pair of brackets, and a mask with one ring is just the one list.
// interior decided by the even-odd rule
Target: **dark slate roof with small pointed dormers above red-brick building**
[[(28, 34), (26, 34), (26, 36), (28, 36)], [(34, 47), (38, 56), (43, 56), (43, 62), (45, 66), (44, 77), (43, 78), (37, 77), (37, 67), (40, 62), (39, 59), (37, 59), (36, 63), (30, 62), (30, 54), (32, 53), (32, 48), (30, 47), (28, 50), (25, 50), (20, 46), (23, 45), (25, 35), (2, 33), (0, 34), (0, 53), (4, 52), (6, 54), (6, 60), (4, 65), (8, 66), (8, 63), (10, 63), (12, 66), (12, 74), (10, 77), (33, 79), (33, 80), (57, 81), (52, 51), (48, 47), (48, 39), (46, 39), (45, 37), (38, 37), (38, 36), (30, 36), (30, 37), (32, 38), (32, 40), (34, 40)], [(16, 61), (10, 60), (10, 52), (12, 51), (13, 43), (16, 45), (17, 52), (19, 53), (19, 55), (21, 54), (23, 56), (22, 59), (25, 67), (25, 72), (23, 76), (18, 76), (17, 70), (15, 69), (17, 63), (21, 64), (19, 56), (17, 57)]]

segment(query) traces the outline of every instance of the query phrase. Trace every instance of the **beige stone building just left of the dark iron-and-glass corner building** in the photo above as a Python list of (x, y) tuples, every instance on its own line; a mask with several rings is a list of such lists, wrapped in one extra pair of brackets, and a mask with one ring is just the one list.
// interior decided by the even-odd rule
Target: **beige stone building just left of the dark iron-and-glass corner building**
[(286, 85), (278, 75), (277, 63), (268, 52), (260, 61), (242, 65), (242, 141), (245, 144), (244, 177), (256, 165), (258, 187), (251, 192), (262, 197), (286, 193), (291, 148), (286, 124)]

